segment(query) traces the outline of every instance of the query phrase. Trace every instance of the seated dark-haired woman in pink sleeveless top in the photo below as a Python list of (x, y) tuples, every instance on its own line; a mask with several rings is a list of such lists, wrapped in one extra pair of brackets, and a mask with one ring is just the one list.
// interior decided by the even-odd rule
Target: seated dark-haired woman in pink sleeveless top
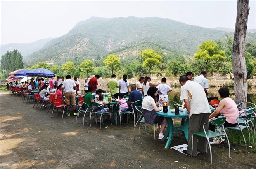
[[(224, 126), (235, 127), (237, 125), (237, 117), (239, 116), (237, 104), (229, 97), (229, 89), (227, 87), (220, 88), (218, 92), (222, 100), (220, 100), (217, 109), (209, 116), (209, 119), (223, 114), (226, 117)], [(209, 124), (209, 130), (214, 131), (214, 127), (214, 125)]]

